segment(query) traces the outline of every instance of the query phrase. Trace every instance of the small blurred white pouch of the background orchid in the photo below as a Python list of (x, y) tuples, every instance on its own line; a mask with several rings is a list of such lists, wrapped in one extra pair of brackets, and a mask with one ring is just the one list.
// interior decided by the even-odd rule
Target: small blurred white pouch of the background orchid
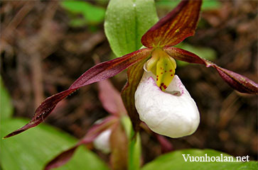
[(111, 129), (104, 130), (104, 132), (100, 133), (100, 135), (98, 135), (96, 139), (93, 141), (94, 147), (96, 149), (99, 149), (104, 154), (108, 154), (111, 152), (109, 142), (111, 132)]

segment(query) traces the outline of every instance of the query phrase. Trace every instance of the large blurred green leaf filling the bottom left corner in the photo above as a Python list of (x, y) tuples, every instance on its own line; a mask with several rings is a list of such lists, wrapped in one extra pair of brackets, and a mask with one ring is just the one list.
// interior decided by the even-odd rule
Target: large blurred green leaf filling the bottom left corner
[[(10, 130), (27, 123), (28, 120), (12, 119), (1, 124), (1, 137)], [(1, 139), (0, 162), (3, 170), (33, 169), (42, 170), (43, 166), (65, 149), (75, 145), (76, 140), (65, 132), (48, 125), (9, 139)], [(77, 149), (74, 157), (59, 169), (108, 169), (97, 156), (84, 146)]]

